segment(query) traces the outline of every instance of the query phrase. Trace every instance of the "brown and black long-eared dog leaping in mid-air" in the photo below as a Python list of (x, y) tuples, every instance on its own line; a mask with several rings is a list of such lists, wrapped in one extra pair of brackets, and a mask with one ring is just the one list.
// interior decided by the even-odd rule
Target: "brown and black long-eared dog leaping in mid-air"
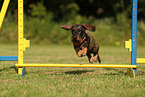
[(93, 63), (93, 58), (91, 54), (94, 55), (94, 61), (101, 63), (100, 57), (99, 57), (99, 45), (91, 36), (88, 31), (95, 31), (96, 26), (94, 25), (61, 25), (61, 28), (65, 30), (71, 30), (72, 31), (72, 37), (71, 41), (73, 42), (74, 49), (76, 51), (76, 54), (79, 57), (83, 57), (87, 55), (89, 62)]

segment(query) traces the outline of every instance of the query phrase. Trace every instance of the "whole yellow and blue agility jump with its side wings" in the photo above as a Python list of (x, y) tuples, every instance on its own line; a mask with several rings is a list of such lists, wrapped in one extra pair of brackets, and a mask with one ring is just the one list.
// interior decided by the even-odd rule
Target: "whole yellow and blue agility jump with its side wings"
[[(0, 28), (8, 8), (10, 0), (4, 0), (1, 13), (0, 13)], [(137, 2), (132, 0), (132, 39), (125, 41), (125, 48), (131, 52), (131, 64), (25, 64), (23, 61), (24, 51), (30, 47), (30, 41), (24, 38), (24, 22), (23, 22), (23, 0), (18, 0), (18, 56), (1, 56), (0, 61), (18, 61), (15, 64), (18, 67), (18, 74), (24, 74), (25, 67), (100, 67), (100, 68), (128, 68), (127, 74), (135, 77), (137, 63), (145, 63), (145, 58), (137, 58)], [(12, 59), (11, 59), (12, 58)]]

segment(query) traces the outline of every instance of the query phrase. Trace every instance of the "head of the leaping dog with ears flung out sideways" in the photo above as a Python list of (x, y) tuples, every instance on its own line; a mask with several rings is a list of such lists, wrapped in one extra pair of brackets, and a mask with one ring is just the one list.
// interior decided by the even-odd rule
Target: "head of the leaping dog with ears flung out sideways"
[(95, 31), (94, 25), (61, 25), (61, 28), (72, 31), (72, 38), (76, 41), (82, 41), (83, 37), (87, 35), (85, 30)]

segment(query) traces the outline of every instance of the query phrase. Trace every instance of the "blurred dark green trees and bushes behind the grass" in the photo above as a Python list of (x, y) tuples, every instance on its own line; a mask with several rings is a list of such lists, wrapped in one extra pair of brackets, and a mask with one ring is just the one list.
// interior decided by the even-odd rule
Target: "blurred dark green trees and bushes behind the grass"
[[(4, 0), (0, 0), (0, 8)], [(138, 0), (138, 45), (145, 45), (145, 0)], [(17, 43), (17, 0), (11, 0), (0, 43)], [(124, 46), (131, 38), (132, 0), (24, 0), (24, 33), (31, 43), (71, 44), (60, 25), (92, 24), (99, 45)]]

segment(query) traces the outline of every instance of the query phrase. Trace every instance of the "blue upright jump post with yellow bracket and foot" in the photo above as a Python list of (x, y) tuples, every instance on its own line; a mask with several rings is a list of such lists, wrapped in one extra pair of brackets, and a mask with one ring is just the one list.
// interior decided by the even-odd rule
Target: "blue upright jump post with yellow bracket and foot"
[[(137, 3), (138, 0), (132, 0), (132, 39), (125, 41), (125, 48), (131, 52), (131, 65), (137, 66)], [(136, 68), (128, 68), (127, 73), (136, 77)]]

